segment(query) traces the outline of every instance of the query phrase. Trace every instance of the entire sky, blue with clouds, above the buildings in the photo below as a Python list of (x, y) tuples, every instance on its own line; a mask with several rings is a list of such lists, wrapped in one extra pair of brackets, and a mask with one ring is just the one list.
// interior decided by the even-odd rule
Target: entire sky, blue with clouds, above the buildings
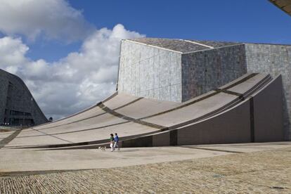
[(291, 17), (267, 0), (0, 0), (0, 68), (59, 119), (115, 91), (121, 39), (291, 44)]

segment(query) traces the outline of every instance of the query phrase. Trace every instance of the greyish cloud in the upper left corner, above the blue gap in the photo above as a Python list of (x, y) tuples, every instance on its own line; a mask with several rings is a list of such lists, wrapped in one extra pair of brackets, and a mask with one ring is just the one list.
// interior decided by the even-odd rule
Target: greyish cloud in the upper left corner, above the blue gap
[(1, 0), (0, 31), (4, 34), (24, 35), (34, 40), (82, 40), (94, 30), (82, 11), (72, 8), (64, 0)]

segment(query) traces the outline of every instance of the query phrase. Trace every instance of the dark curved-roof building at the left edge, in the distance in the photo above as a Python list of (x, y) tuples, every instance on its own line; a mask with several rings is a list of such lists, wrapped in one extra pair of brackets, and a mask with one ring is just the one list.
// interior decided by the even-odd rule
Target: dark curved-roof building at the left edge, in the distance
[(0, 70), (0, 124), (32, 126), (48, 122), (25, 83)]

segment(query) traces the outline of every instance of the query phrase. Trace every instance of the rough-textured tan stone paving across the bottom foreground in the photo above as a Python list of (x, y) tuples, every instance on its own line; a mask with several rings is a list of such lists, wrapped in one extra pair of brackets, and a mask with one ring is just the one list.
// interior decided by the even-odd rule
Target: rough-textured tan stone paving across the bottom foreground
[[(191, 149), (188, 149), (191, 150)], [(0, 193), (291, 193), (291, 147), (110, 169), (0, 176)]]

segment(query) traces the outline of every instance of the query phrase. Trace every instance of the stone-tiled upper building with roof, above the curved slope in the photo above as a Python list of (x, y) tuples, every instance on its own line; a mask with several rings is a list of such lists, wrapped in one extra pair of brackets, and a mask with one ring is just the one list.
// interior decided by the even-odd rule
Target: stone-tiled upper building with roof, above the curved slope
[(118, 91), (158, 101), (184, 102), (247, 72), (282, 75), (285, 139), (291, 139), (291, 45), (122, 40)]

